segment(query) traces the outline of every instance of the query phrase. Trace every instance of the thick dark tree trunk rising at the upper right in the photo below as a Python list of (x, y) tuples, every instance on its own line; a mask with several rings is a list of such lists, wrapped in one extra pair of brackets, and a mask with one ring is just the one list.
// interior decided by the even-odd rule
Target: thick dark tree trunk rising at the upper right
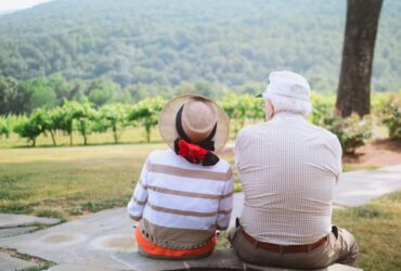
[(371, 76), (383, 0), (348, 0), (336, 109), (347, 117), (371, 111)]

